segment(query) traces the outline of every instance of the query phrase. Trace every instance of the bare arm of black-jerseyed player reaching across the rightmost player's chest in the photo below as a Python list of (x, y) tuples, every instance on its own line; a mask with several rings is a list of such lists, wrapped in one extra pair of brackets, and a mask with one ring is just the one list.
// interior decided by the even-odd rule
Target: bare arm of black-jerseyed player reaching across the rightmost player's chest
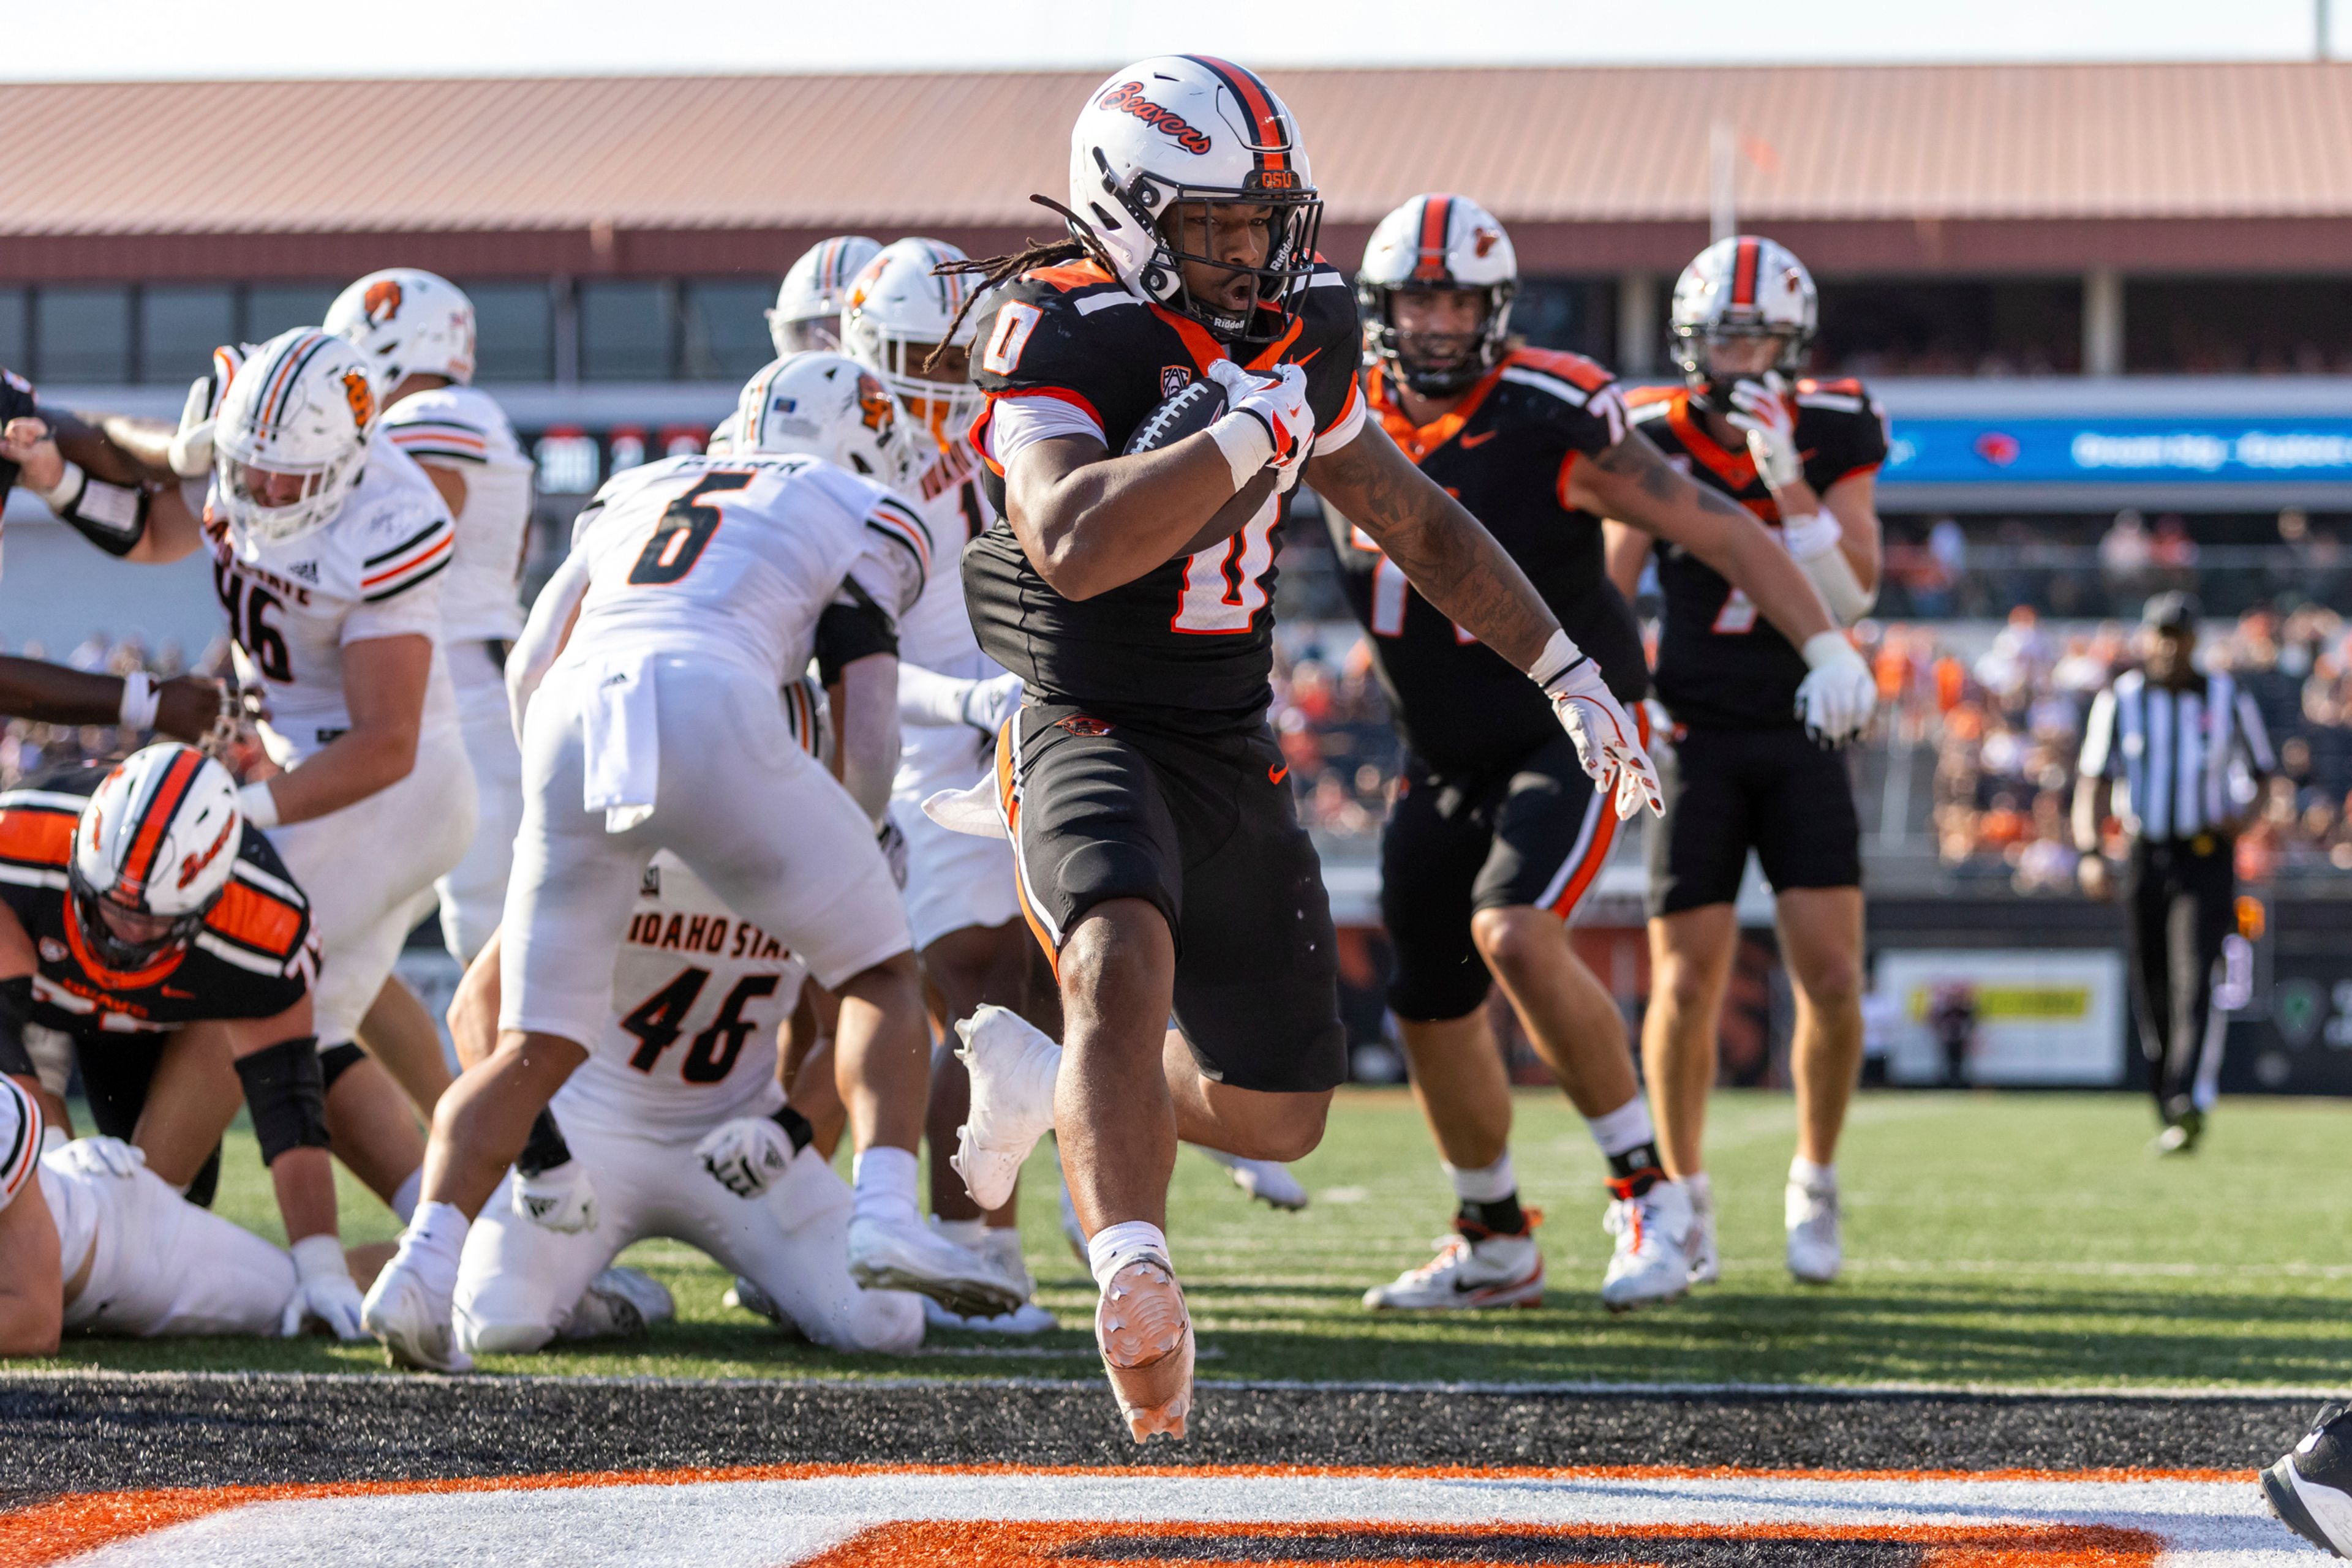
[(1733, 588), (1748, 590), (1764, 618), (1799, 649), (1818, 632), (1837, 630), (1780, 541), (1738, 501), (1677, 473), (1639, 430), (1628, 430), (1625, 440), (1569, 470), (1569, 505), (1682, 545)]

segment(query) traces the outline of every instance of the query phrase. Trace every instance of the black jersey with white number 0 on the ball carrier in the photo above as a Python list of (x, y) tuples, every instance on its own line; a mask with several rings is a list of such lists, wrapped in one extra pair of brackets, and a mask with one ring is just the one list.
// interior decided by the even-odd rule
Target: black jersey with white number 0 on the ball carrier
[[(1249, 369), (1296, 364), (1315, 428), (1359, 418), (1355, 294), (1319, 263), (1298, 317)], [(1225, 350), (1190, 317), (1129, 294), (1094, 263), (1040, 268), (1007, 284), (974, 334), (971, 376), (990, 395), (974, 428), (988, 498), (1004, 512), (990, 423), (1007, 397), (1056, 397), (1084, 411), (1110, 451)], [(1065, 599), (997, 522), (964, 550), (964, 599), (981, 646), (1033, 698), (1178, 733), (1258, 724), (1270, 701), (1277, 508), (1232, 538), (1178, 557), (1091, 599)]]

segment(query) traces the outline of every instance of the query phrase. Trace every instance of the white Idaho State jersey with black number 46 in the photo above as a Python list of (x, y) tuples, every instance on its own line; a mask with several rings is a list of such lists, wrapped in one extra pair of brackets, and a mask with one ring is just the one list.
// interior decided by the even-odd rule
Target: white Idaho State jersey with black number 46
[(663, 851), (612, 971), (612, 1020), (555, 1095), (562, 1126), (699, 1138), (783, 1105), (776, 1027), (809, 969)]

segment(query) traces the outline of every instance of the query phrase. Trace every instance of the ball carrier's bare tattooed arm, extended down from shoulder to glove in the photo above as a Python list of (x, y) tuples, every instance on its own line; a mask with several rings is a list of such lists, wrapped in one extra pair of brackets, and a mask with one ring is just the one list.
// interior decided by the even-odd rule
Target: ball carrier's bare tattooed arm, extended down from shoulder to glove
[(1308, 458), (1308, 484), (1397, 562), (1406, 581), (1454, 623), (1522, 670), (1536, 665), (1559, 621), (1494, 534), (1367, 423), (1338, 451)]

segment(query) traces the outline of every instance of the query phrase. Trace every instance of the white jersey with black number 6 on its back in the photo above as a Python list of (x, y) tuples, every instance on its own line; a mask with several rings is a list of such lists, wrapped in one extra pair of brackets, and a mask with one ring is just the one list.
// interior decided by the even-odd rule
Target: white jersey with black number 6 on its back
[(894, 623), (922, 597), (931, 534), (880, 484), (811, 456), (680, 456), (609, 480), (572, 524), (588, 592), (560, 663), (710, 658), (800, 679), (844, 592)]

